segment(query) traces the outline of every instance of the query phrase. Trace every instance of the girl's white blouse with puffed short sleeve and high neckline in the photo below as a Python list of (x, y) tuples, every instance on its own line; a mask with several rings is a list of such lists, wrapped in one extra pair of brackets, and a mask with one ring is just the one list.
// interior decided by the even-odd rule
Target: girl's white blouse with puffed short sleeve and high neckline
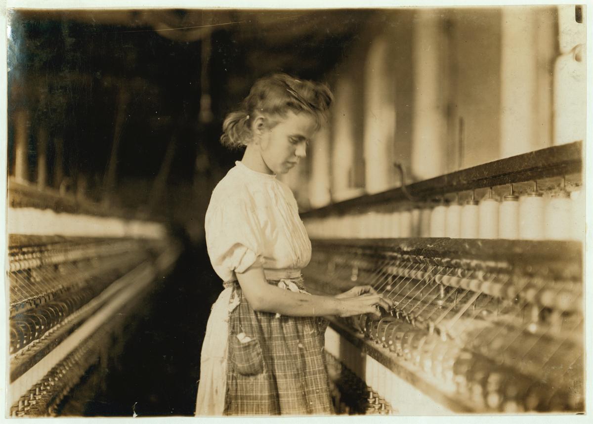
[(212, 267), (223, 281), (256, 262), (264, 269), (302, 269), (311, 260), (291, 189), (240, 161), (213, 190), (205, 230)]

